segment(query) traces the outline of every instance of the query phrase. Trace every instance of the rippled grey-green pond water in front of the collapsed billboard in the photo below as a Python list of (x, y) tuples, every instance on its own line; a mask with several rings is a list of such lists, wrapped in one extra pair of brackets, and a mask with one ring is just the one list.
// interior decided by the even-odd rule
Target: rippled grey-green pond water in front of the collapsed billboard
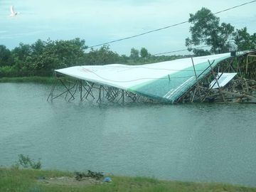
[(253, 104), (47, 102), (50, 85), (0, 83), (0, 165), (256, 187)]

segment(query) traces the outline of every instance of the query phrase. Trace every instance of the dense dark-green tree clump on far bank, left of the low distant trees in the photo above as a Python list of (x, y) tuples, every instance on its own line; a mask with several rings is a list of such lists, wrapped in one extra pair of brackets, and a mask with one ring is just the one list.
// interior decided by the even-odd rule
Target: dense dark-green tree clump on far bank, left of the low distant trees
[(41, 41), (20, 43), (14, 50), (0, 46), (0, 77), (46, 76), (56, 68), (80, 65), (85, 55), (85, 41)]

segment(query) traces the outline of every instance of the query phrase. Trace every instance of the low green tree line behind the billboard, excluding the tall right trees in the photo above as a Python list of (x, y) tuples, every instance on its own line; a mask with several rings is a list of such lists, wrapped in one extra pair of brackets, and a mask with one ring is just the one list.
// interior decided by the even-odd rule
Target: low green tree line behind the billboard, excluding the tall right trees
[(141, 50), (132, 48), (129, 56), (119, 55), (110, 50), (109, 46), (90, 49), (88, 53), (85, 52), (86, 49), (85, 40), (80, 38), (67, 41), (38, 39), (31, 45), (20, 43), (13, 50), (0, 45), (0, 78), (48, 76), (52, 75), (55, 69), (75, 65), (106, 65), (110, 63), (137, 65), (183, 58), (183, 55), (154, 56), (146, 48), (141, 48)]

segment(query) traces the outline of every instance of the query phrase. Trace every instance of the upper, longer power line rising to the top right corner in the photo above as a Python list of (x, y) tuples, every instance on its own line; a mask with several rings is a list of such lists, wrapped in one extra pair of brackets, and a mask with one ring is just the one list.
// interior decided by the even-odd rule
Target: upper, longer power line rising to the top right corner
[[(216, 13), (214, 13), (214, 14), (220, 14), (220, 13), (223, 13), (223, 12), (225, 12), (225, 11), (229, 11), (229, 10), (231, 10), (231, 9), (238, 8), (238, 7), (240, 7), (240, 6), (245, 6), (245, 5), (247, 5), (247, 4), (252, 4), (252, 3), (254, 3), (254, 2), (256, 2), (256, 0), (254, 0), (254, 1), (249, 1), (249, 2), (244, 3), (244, 4), (240, 4), (240, 5), (238, 5), (238, 6), (233, 6), (233, 7), (230, 7), (230, 8), (228, 8), (228, 9), (224, 9), (224, 10), (222, 10), (222, 11), (218, 11), (218, 12), (216, 12)], [(117, 39), (117, 40), (108, 41), (108, 42), (106, 42), (106, 43), (100, 43), (100, 44), (97, 44), (97, 45), (95, 45), (95, 46), (89, 46), (88, 48), (94, 48), (94, 47), (97, 47), (97, 46), (103, 46), (103, 45), (110, 44), (110, 43), (114, 43), (114, 42), (117, 42), (117, 41), (124, 41), (124, 40), (127, 40), (127, 39), (129, 39), (129, 38), (135, 38), (135, 37), (138, 37), (138, 36), (144, 36), (144, 35), (146, 35), (146, 34), (148, 34), (148, 33), (153, 33), (153, 32), (156, 32), (156, 31), (161, 31), (161, 30), (164, 30), (164, 29), (166, 29), (166, 28), (171, 28), (171, 27), (174, 27), (174, 26), (179, 26), (179, 25), (184, 24), (184, 23), (188, 23), (188, 21), (183, 21), (183, 22), (181, 22), (181, 23), (176, 23), (176, 24), (171, 25), (171, 26), (165, 26), (165, 27), (163, 27), (163, 28), (156, 28), (156, 29), (154, 29), (154, 30), (146, 31), (146, 32), (144, 32), (144, 33), (140, 33), (140, 34), (137, 34), (137, 35), (134, 35), (134, 36), (129, 36), (129, 37), (126, 37), (126, 38), (119, 38), (119, 39)], [(177, 52), (178, 52), (178, 51), (177, 51)]]

